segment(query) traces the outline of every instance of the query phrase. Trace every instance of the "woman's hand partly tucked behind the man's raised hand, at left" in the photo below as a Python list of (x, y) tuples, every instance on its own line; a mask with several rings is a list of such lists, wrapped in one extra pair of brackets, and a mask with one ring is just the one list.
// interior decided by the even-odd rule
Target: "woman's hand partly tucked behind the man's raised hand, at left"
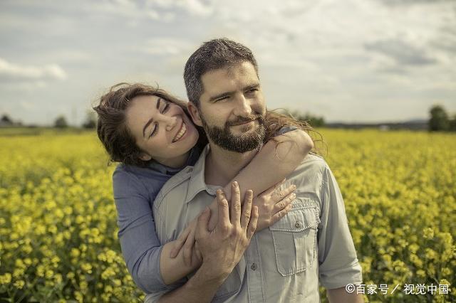
[(190, 267), (199, 267), (202, 262), (201, 253), (195, 245), (195, 232), (198, 218), (193, 219), (190, 224), (175, 240), (174, 248), (170, 251), (170, 257), (175, 258), (182, 250), (185, 265)]

